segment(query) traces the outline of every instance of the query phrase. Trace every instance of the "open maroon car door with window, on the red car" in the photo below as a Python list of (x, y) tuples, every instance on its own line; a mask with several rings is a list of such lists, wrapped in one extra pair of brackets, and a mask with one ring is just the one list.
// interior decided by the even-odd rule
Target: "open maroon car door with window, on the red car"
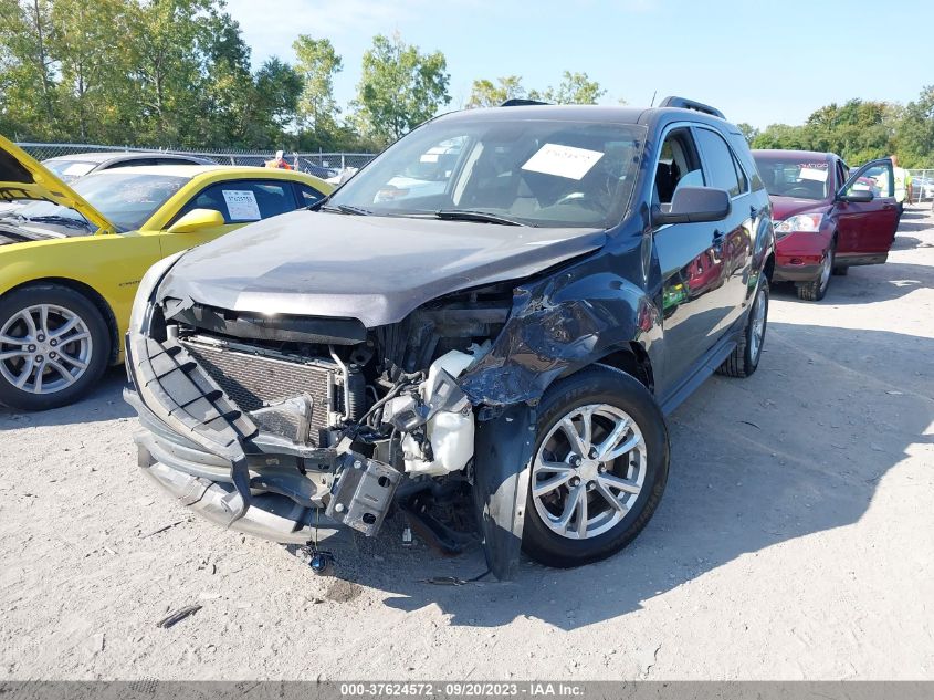
[(837, 192), (837, 263), (885, 262), (899, 228), (895, 174), (890, 158), (871, 160)]

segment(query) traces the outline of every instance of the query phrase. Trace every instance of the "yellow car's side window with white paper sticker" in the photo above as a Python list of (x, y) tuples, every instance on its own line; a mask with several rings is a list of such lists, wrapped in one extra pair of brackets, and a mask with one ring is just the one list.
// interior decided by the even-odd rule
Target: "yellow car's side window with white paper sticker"
[(175, 220), (192, 209), (213, 209), (224, 223), (248, 223), (269, 219), (297, 208), (292, 182), (286, 180), (237, 180), (210, 185), (196, 195)]

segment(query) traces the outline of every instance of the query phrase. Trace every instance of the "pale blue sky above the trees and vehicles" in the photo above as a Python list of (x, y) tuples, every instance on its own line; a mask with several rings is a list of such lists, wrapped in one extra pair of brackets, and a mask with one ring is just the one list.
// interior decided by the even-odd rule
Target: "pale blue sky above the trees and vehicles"
[(300, 33), (330, 39), (344, 58), (342, 104), (372, 35), (395, 31), (444, 52), (450, 108), (476, 77), (515, 74), (541, 88), (570, 70), (599, 81), (606, 103), (682, 95), (764, 127), (852, 97), (905, 103), (934, 84), (931, 0), (228, 0), (228, 10), (254, 64), (293, 60)]

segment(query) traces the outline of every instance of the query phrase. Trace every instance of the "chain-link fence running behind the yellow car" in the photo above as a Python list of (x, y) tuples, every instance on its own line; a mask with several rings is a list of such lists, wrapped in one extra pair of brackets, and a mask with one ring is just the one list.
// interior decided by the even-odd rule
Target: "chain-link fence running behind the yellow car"
[[(97, 144), (38, 144), (22, 142), (17, 144), (36, 160), (76, 156), (85, 153), (168, 153), (209, 158), (218, 165), (245, 165), (262, 167), (266, 160), (275, 158), (272, 150), (185, 150), (179, 148), (140, 148), (135, 146), (101, 146)], [(285, 152), (285, 159), (292, 167), (316, 175), (335, 177), (353, 173), (369, 163), (375, 154), (369, 153), (296, 153)]]

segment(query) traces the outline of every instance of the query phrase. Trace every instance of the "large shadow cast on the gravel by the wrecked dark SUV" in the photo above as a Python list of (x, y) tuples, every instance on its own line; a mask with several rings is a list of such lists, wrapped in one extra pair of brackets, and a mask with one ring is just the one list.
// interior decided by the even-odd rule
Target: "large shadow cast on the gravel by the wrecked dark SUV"
[(431, 585), (482, 573), (479, 547), (454, 560), (405, 548), (393, 521), (338, 553), (337, 576), (385, 592), (393, 608), (437, 605), (452, 625), (535, 617), (574, 629), (742, 555), (856, 523), (910, 446), (934, 441), (934, 370), (917, 363), (934, 357), (934, 339), (773, 323), (766, 351), (751, 378), (714, 377), (671, 416), (668, 491), (620, 554), (577, 570), (524, 561), (510, 583)]

